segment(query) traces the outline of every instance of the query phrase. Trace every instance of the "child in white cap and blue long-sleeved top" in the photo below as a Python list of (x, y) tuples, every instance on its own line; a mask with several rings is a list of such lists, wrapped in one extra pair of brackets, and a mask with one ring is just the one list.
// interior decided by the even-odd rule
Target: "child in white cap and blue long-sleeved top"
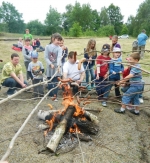
[[(114, 48), (113, 49), (113, 58), (111, 59), (111, 63), (109, 64), (109, 80), (112, 82), (119, 81), (120, 80), (120, 73), (124, 70), (124, 67), (119, 62), (122, 62), (121, 58), (121, 49), (120, 48)], [(113, 84), (110, 85), (110, 89), (113, 86)], [(121, 96), (120, 90), (118, 85), (115, 84), (115, 95), (117, 97)]]

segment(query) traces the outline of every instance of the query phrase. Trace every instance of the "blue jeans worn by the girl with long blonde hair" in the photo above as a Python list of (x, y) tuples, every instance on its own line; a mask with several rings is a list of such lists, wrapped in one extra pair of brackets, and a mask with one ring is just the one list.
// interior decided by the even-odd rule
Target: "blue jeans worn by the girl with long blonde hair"
[[(84, 69), (88, 69), (88, 70), (85, 70), (85, 74), (86, 74), (86, 82), (87, 84), (89, 84), (89, 73), (91, 75), (91, 81), (95, 79), (95, 74), (94, 74), (94, 69), (93, 69), (93, 66), (86, 66), (84, 65)], [(91, 86), (93, 87), (94, 86), (94, 83), (91, 83)]]

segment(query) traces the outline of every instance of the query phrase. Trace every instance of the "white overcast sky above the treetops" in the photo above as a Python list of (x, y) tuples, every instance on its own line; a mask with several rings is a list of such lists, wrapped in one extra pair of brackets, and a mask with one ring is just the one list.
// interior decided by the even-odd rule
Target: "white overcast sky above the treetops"
[[(19, 13), (23, 14), (25, 23), (39, 19), (42, 23), (46, 18), (46, 13), (49, 11), (49, 6), (57, 9), (59, 13), (66, 11), (65, 7), (68, 4), (75, 4), (76, 0), (0, 0), (12, 3)], [(91, 8), (100, 12), (101, 7), (108, 7), (111, 3), (120, 7), (121, 14), (124, 15), (124, 22), (130, 15), (135, 16), (139, 5), (144, 0), (77, 0), (81, 5), (89, 3)]]

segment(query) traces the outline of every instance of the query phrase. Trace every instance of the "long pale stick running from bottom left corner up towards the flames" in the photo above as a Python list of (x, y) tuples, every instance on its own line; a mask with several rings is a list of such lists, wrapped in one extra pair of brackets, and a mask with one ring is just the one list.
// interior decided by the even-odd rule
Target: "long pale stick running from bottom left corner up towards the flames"
[[(56, 71), (58, 72), (58, 71)], [(55, 73), (56, 74), (56, 73)], [(53, 75), (53, 77), (51, 78), (51, 80), (55, 77), (55, 74)], [(30, 120), (31, 116), (33, 115), (33, 113), (37, 110), (37, 108), (39, 107), (39, 105), (42, 103), (42, 101), (48, 96), (48, 94), (53, 91), (54, 89), (56, 89), (57, 87), (59, 87), (59, 85), (61, 84), (61, 82), (58, 83), (58, 85), (54, 88), (52, 88), (51, 90), (49, 90), (47, 92), (47, 94), (40, 100), (40, 102), (36, 105), (36, 107), (31, 111), (31, 113), (28, 115), (28, 117), (26, 118), (26, 120), (24, 121), (24, 123), (22, 124), (22, 126), (20, 127), (20, 129), (18, 130), (18, 132), (14, 135), (14, 137), (12, 138), (9, 147), (6, 151), (6, 153), (4, 154), (4, 156), (2, 157), (1, 161), (5, 161), (8, 156), (10, 155), (13, 147), (14, 147), (14, 143), (15, 140), (17, 139), (17, 137), (19, 136), (19, 134), (22, 132), (22, 130), (24, 129), (24, 127), (26, 126), (26, 124), (28, 123), (28, 121)]]

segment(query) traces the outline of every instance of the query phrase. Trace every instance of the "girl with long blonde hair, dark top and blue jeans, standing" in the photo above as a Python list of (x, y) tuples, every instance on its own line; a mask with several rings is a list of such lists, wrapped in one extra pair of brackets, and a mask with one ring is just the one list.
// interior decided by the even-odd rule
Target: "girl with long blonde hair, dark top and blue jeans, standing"
[[(89, 61), (83, 62), (84, 69), (86, 70), (86, 83), (89, 84), (89, 73), (91, 75), (91, 81), (95, 79), (95, 74), (94, 74), (94, 65), (95, 61), (92, 59), (96, 59), (97, 53), (96, 51), (96, 41), (94, 39), (90, 39), (88, 41), (86, 49), (84, 49), (84, 58), (88, 59)], [(91, 90), (94, 88), (94, 83), (91, 83), (88, 86), (88, 90)]]

